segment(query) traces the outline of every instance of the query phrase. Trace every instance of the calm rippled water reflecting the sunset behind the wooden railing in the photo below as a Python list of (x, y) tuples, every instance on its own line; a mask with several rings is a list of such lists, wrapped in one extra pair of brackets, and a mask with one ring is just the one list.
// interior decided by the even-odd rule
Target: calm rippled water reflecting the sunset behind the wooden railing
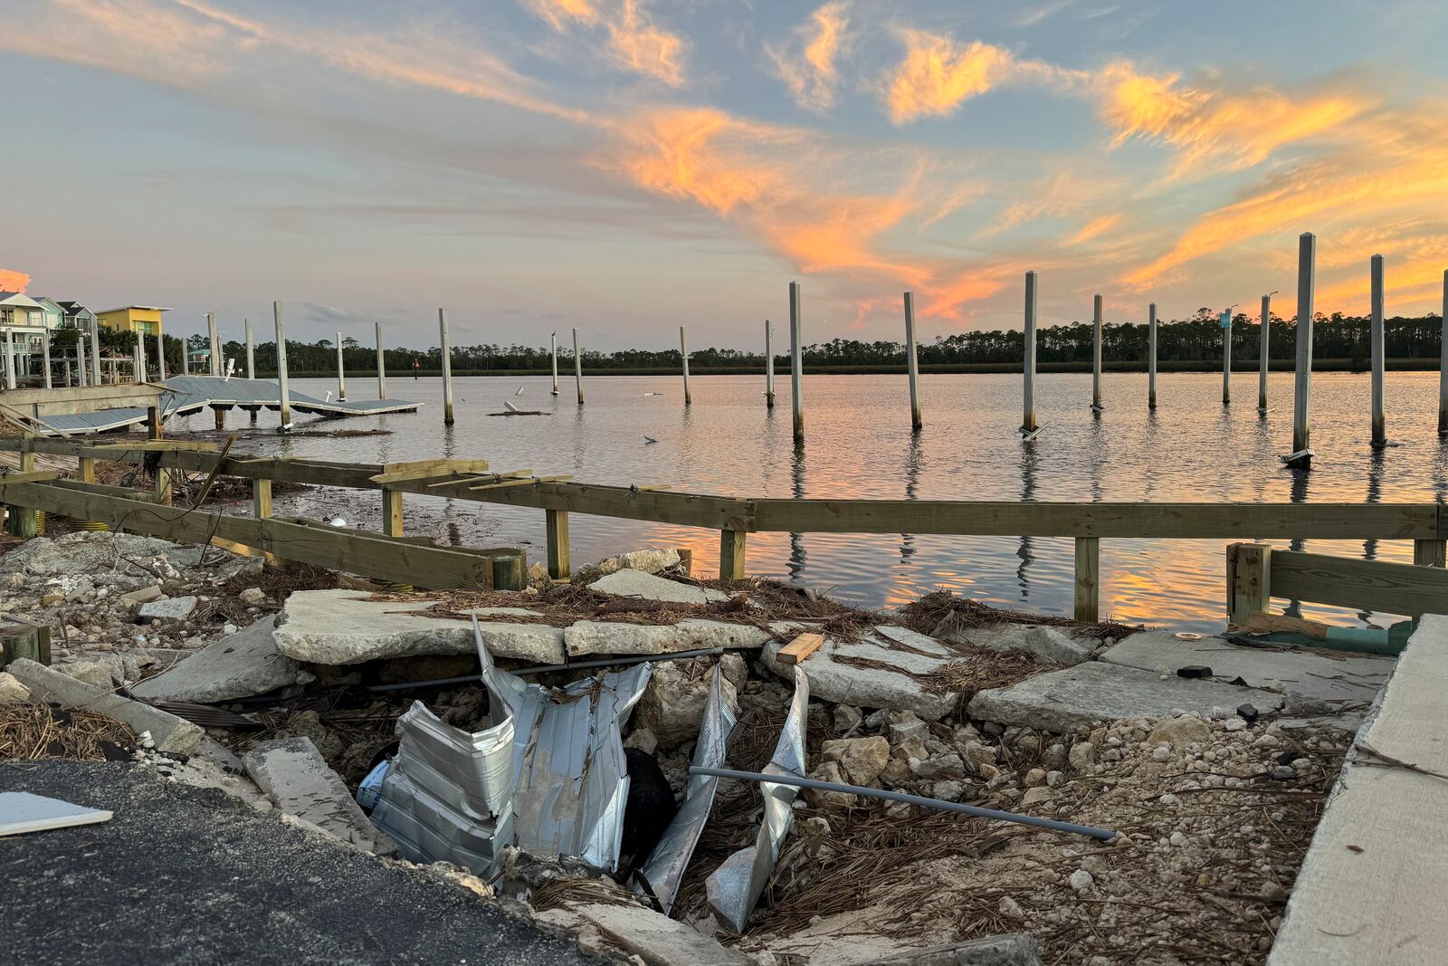
[[(295, 379), (323, 395), (334, 382)], [(1436, 436), (1438, 375), (1387, 377), (1387, 427), (1394, 446), (1368, 446), (1368, 378), (1313, 377), (1310, 474), (1281, 469), (1292, 449), (1292, 377), (1274, 374), (1266, 417), (1257, 413), (1257, 375), (1232, 379), (1234, 404), (1221, 404), (1221, 374), (1158, 377), (1158, 408), (1145, 406), (1145, 375), (1108, 374), (1106, 411), (1087, 407), (1090, 375), (1037, 378), (1045, 430), (1022, 445), (1018, 375), (924, 375), (925, 429), (909, 433), (904, 375), (808, 377), (802, 453), (791, 440), (789, 384), (778, 382), (765, 408), (762, 377), (696, 377), (694, 406), (682, 406), (676, 377), (585, 379), (588, 404), (575, 404), (572, 379), (549, 395), (547, 378), (458, 379), (456, 426), (442, 424), (437, 379), (392, 378), (392, 398), (424, 403), (416, 414), (298, 423), (298, 429), (385, 429), (387, 436), (323, 439), (261, 433), (242, 448), (334, 461), (403, 462), (481, 458), (494, 469), (573, 474), (589, 482), (669, 484), (673, 490), (753, 497), (882, 497), (921, 500), (1083, 501), (1432, 501), (1448, 478), (1448, 448)], [(523, 387), (521, 395), (514, 392)], [(349, 379), (352, 398), (375, 398), (375, 379)], [(650, 395), (653, 392), (654, 395)], [(492, 417), (504, 400), (550, 416)], [(229, 416), (246, 427), (243, 414)], [(277, 424), (262, 413), (259, 426)], [(181, 420), (211, 429), (211, 414)], [(646, 443), (644, 437), (657, 439)], [(277, 513), (323, 516), (376, 529), (375, 495), (323, 491), (278, 497)], [(575, 516), (575, 562), (643, 546), (688, 546), (699, 572), (718, 568), (714, 532)], [(543, 514), (468, 501), (407, 497), (410, 533), (440, 542), (523, 545), (543, 556)], [(1224, 610), (1225, 540), (1102, 540), (1102, 614), (1125, 621), (1218, 629)], [(1412, 560), (1412, 543), (1310, 542), (1306, 549)], [(992, 604), (1048, 613), (1072, 607), (1069, 539), (938, 537), (911, 534), (759, 533), (749, 537), (750, 574), (796, 576), (864, 604), (893, 604), (950, 588)], [(1325, 608), (1337, 620), (1367, 618)], [(1381, 618), (1377, 618), (1381, 623)]]

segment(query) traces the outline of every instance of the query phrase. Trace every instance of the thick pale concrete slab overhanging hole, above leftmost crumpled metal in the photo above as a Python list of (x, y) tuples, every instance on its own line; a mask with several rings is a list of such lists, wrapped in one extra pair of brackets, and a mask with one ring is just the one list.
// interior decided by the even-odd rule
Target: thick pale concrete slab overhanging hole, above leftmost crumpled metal
[[(355, 665), (379, 658), (475, 653), (472, 627), (434, 617), (432, 601), (372, 601), (349, 589), (297, 591), (277, 616), (277, 650), (295, 660)], [(563, 629), (488, 621), (484, 643), (495, 658), (562, 663)]]

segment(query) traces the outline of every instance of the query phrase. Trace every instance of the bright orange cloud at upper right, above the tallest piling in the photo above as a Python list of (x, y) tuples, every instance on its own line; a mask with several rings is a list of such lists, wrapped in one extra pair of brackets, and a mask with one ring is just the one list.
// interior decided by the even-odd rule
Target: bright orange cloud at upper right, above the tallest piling
[(1361, 96), (1322, 94), (1293, 100), (1270, 88), (1242, 94), (1183, 87), (1176, 74), (1138, 74), (1124, 61), (1095, 80), (1102, 119), (1119, 146), (1132, 138), (1177, 149), (1171, 177), (1215, 161), (1245, 168), (1283, 145), (1329, 132), (1370, 107)]

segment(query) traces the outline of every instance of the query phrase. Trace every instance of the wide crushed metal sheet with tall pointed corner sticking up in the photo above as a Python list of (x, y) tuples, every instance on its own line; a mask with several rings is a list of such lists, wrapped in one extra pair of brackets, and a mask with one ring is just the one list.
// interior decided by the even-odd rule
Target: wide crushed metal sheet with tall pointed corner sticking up
[(476, 616), (472, 627), (482, 678), (515, 721), (517, 844), (546, 857), (578, 856), (613, 872), (628, 801), (621, 728), (643, 697), (652, 665), (584, 678), (562, 689), (543, 688), (494, 666)]

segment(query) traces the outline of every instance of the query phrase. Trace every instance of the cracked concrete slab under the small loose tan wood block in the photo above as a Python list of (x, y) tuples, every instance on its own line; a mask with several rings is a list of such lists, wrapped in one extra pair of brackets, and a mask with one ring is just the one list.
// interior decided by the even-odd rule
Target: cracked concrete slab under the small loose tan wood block
[[(786, 665), (779, 659), (783, 643), (770, 642), (760, 659), (772, 672), (789, 681), (795, 665)], [(849, 659), (869, 660), (873, 666), (850, 663)], [(904, 627), (886, 626), (877, 627), (870, 637), (853, 643), (827, 637), (824, 644), (799, 666), (809, 678), (809, 694), (821, 701), (914, 711), (928, 721), (937, 721), (956, 710), (960, 692), (934, 694), (925, 689), (922, 678), (938, 673), (959, 659), (938, 640)], [(886, 665), (893, 671), (877, 665)]]

